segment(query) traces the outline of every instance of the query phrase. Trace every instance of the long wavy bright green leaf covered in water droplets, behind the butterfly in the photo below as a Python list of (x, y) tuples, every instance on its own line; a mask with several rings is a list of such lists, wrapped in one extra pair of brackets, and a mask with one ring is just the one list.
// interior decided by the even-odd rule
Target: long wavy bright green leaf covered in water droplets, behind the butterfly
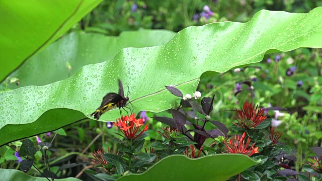
[[(118, 77), (125, 89), (129, 86), (135, 113), (159, 112), (177, 99), (163, 91), (164, 85), (175, 84), (184, 94), (192, 94), (203, 72), (225, 72), (259, 62), (270, 50), (322, 47), (321, 39), (322, 8), (308, 14), (264, 10), (248, 23), (188, 27), (166, 45), (125, 48), (113, 59), (84, 66), (68, 79), (0, 93), (0, 145), (86, 118), (106, 93), (117, 92)], [(62, 116), (67, 112), (69, 116)], [(101, 119), (117, 117), (119, 111), (112, 110)]]

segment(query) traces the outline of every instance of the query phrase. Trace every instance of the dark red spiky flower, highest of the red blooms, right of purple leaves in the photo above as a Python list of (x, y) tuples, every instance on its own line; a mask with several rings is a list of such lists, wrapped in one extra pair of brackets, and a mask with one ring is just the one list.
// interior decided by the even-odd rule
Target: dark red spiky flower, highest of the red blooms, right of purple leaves
[(244, 129), (256, 128), (267, 118), (267, 115), (264, 115), (265, 109), (260, 108), (258, 110), (257, 108), (258, 105), (255, 108), (252, 103), (246, 102), (244, 104), (244, 109), (236, 109), (237, 116), (235, 117), (235, 120), (237, 120), (238, 123), (233, 124)]

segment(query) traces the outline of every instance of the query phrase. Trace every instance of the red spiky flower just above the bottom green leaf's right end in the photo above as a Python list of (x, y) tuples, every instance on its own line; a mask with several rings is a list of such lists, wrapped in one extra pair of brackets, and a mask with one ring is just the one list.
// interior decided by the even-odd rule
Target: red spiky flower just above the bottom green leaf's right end
[(246, 136), (246, 133), (244, 132), (241, 138), (239, 135), (238, 135), (238, 138), (235, 135), (235, 137), (229, 140), (229, 143), (225, 141), (224, 144), (228, 150), (228, 153), (245, 154), (248, 156), (252, 156), (254, 153), (259, 153), (258, 147), (254, 148), (255, 143), (250, 148), (248, 148), (251, 142), (251, 138), (249, 137), (247, 139), (247, 142), (245, 143), (245, 140), (244, 140), (245, 136)]

